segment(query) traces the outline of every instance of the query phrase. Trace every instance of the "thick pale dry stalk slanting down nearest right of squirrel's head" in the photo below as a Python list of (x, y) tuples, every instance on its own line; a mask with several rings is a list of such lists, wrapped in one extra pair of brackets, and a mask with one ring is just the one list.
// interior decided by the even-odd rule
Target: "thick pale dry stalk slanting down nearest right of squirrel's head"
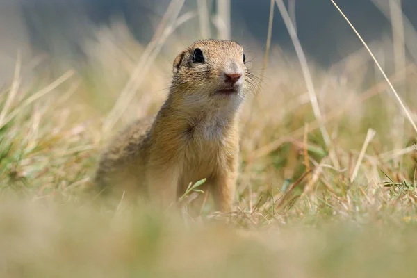
[(302, 74), (304, 76), (304, 81), (306, 82), (307, 91), (309, 92), (311, 106), (313, 107), (313, 113), (316, 119), (318, 120), (319, 129), (322, 133), (323, 140), (325, 141), (327, 148), (329, 148), (330, 158), (332, 159), (332, 163), (334, 164), (334, 166), (339, 167), (336, 154), (334, 154), (334, 151), (331, 147), (332, 141), (330, 140), (329, 133), (327, 132), (325, 124), (322, 120), (322, 114), (320, 111), (320, 106), (318, 105), (317, 95), (316, 95), (316, 91), (314, 90), (313, 79), (311, 78), (309, 66), (307, 64), (307, 59), (306, 59), (306, 56), (304, 55), (304, 51), (302, 50), (300, 40), (298, 40), (297, 33), (295, 32), (295, 28), (293, 26), (293, 22), (291, 22), (291, 18), (288, 15), (288, 11), (286, 10), (286, 7), (284, 5), (284, 1), (275, 0), (275, 3), (277, 3), (279, 12), (281, 13), (282, 19), (284, 19), (284, 23), (286, 25), (288, 33), (290, 34), (291, 40), (294, 44), (297, 57), (300, 60)]

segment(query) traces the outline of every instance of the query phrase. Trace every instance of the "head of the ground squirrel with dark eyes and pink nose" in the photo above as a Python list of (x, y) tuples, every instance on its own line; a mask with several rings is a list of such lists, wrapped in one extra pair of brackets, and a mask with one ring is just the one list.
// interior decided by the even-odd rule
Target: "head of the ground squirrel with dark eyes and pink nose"
[(245, 63), (240, 44), (199, 40), (174, 60), (172, 97), (189, 105), (238, 105), (251, 87)]

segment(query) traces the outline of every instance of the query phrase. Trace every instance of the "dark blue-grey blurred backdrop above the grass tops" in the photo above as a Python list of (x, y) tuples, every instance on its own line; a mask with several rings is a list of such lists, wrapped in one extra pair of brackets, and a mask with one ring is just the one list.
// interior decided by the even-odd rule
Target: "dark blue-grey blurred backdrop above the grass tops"
[[(96, 26), (109, 24), (114, 16), (122, 17), (135, 38), (146, 44), (168, 3), (168, 0), (0, 0), (0, 15), (7, 13), (7, 6), (18, 4), (33, 49), (49, 54), (67, 51), (77, 56), (82, 54), (80, 42), (89, 35), (85, 26), (91, 22)], [(337, 3), (366, 41), (381, 38), (383, 33), (391, 35), (389, 21), (370, 0), (338, 0)], [(195, 1), (186, 1), (183, 10), (195, 6)], [(211, 6), (215, 7), (213, 1)], [(318, 63), (329, 65), (361, 47), (331, 1), (296, 0), (295, 6), (297, 31), (304, 51)], [(417, 1), (402, 0), (402, 6), (404, 15), (417, 26), (414, 16)], [(264, 46), (269, 8), (268, 0), (231, 1), (232, 37), (244, 40), (250, 35)], [(277, 6), (272, 42), (293, 49)]]

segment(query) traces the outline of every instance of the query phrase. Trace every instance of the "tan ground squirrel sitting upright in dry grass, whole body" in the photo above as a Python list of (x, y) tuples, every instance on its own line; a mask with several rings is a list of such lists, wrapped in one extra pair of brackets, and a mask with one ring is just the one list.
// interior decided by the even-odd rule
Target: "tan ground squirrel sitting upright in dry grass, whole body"
[(245, 63), (243, 47), (231, 40), (199, 40), (182, 51), (161, 110), (131, 124), (102, 154), (99, 186), (142, 190), (165, 206), (177, 202), (190, 182), (206, 178), (202, 190), (213, 195), (216, 209), (231, 211), (238, 113), (252, 87)]

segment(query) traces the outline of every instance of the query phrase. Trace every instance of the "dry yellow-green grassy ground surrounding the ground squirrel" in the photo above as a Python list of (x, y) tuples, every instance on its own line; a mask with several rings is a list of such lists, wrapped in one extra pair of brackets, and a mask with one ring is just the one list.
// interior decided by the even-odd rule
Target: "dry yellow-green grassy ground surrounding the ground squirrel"
[[(118, 35), (122, 32), (118, 30)], [(242, 115), (238, 211), (181, 220), (109, 211), (83, 195), (111, 133), (155, 113), (172, 53), (158, 56), (115, 127), (102, 126), (144, 48), (101, 34), (76, 71), (0, 95), (1, 277), (412, 277), (417, 271), (416, 133), (368, 54), (309, 63), (323, 140), (297, 59), (272, 47)], [(122, 33), (123, 35), (123, 33)], [(112, 38), (112, 37), (109, 37)], [(262, 53), (252, 49), (259, 75)], [(171, 59), (172, 60), (172, 59)], [(258, 62), (256, 62), (258, 60)], [(256, 64), (257, 63), (257, 64)], [(416, 121), (416, 65), (389, 74)], [(368, 135), (368, 139), (366, 140)]]

